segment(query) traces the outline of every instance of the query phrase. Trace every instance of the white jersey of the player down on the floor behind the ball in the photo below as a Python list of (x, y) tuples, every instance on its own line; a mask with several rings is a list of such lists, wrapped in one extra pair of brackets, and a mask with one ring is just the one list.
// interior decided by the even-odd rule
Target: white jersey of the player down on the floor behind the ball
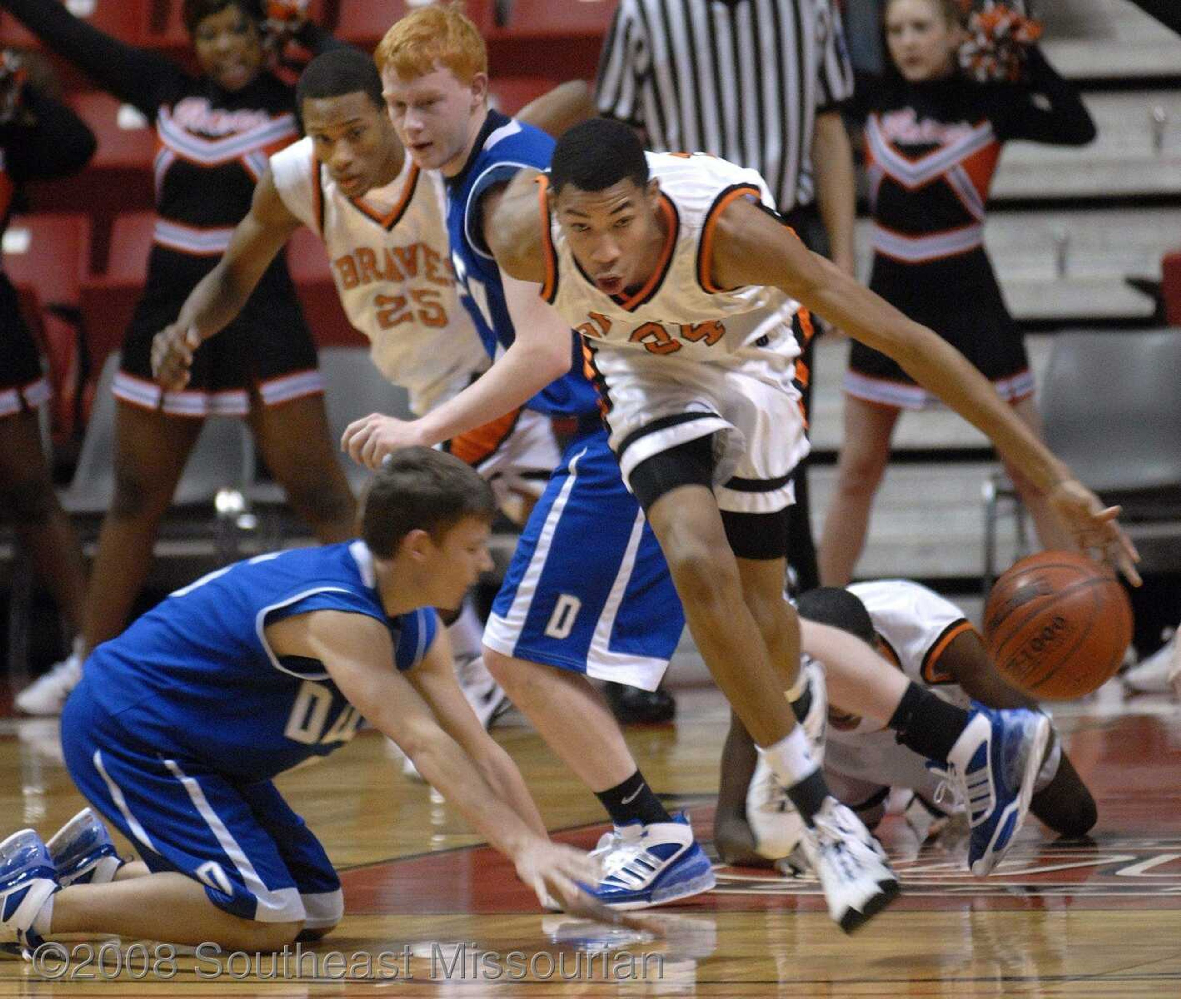
[[(952, 640), (973, 631), (964, 612), (938, 593), (909, 580), (874, 580), (848, 587), (869, 612), (874, 631), (881, 639), (882, 658), (901, 670), (908, 679), (960, 706), (967, 694), (939, 666), (939, 659)], [(866, 718), (834, 718), (830, 738), (879, 731), (882, 726)]]

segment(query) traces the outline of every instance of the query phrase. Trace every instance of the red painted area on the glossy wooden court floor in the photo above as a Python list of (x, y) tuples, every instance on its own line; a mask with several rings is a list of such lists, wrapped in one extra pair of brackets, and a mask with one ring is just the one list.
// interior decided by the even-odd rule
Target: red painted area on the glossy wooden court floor
[[(1181, 909), (1181, 737), (1170, 719), (1129, 716), (1084, 720), (1068, 739), (1071, 759), (1100, 803), (1094, 843), (1055, 843), (1036, 822), (1022, 831), (987, 879), (972, 877), (946, 854), (926, 849), (895, 867), (898, 910)], [(713, 807), (692, 811), (703, 844)], [(890, 828), (889, 823), (893, 823)], [(882, 838), (901, 831), (888, 818)], [(586, 849), (607, 825), (555, 835)], [(533, 893), (488, 847), (412, 856), (342, 875), (350, 914), (536, 913)], [(718, 888), (678, 909), (821, 912), (818, 886), (769, 871), (720, 868)]]

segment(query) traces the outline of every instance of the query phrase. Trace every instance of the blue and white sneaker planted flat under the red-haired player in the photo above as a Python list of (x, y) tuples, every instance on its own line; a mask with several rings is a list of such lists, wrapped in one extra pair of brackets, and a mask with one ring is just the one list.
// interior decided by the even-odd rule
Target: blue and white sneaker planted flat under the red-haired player
[(672, 822), (616, 825), (602, 835), (590, 856), (601, 864), (603, 876), (587, 890), (615, 909), (664, 906), (709, 892), (717, 883), (683, 811)]

